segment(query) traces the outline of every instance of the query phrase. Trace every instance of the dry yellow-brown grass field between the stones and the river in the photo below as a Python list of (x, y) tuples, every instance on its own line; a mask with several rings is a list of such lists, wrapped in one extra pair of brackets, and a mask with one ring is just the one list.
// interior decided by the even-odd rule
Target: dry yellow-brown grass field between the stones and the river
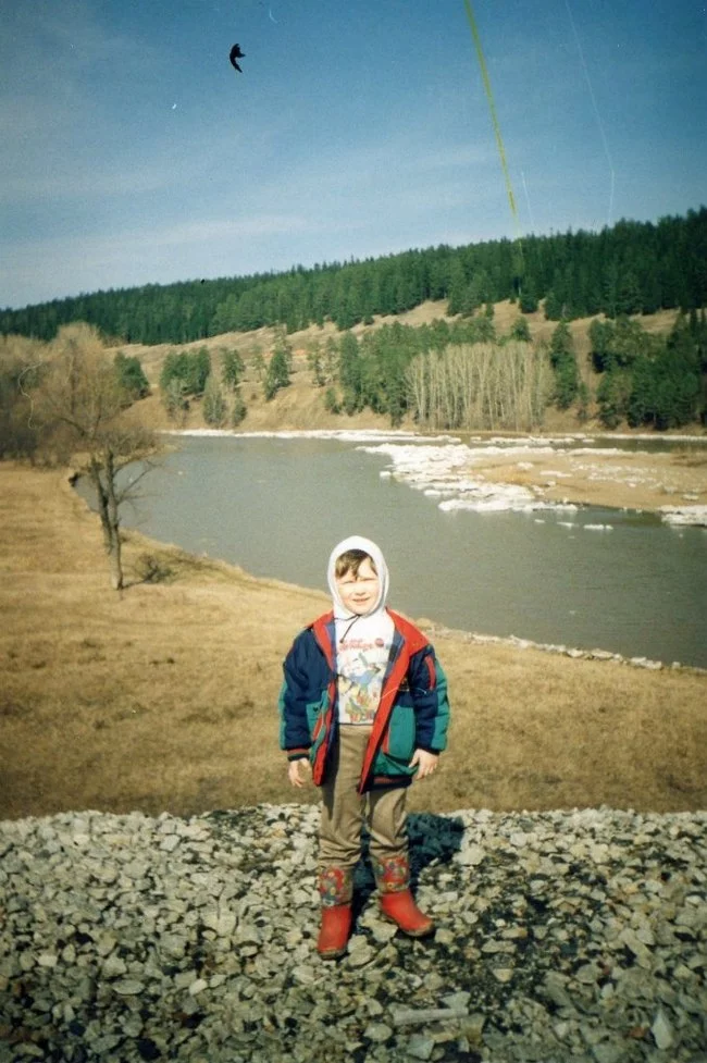
[[(171, 574), (119, 594), (65, 477), (3, 465), (0, 487), (0, 817), (317, 800), (286, 783), (276, 697), (322, 594), (136, 534), (131, 571)], [(411, 807), (705, 807), (704, 673), (433, 636), (454, 726)]]

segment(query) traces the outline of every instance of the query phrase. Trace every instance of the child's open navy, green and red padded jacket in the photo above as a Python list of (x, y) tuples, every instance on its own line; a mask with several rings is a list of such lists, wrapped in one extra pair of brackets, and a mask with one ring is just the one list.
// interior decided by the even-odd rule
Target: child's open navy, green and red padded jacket
[[(426, 635), (388, 609), (395, 625), (381, 702), (373, 721), (359, 793), (409, 786), (417, 749), (446, 747), (447, 680)], [(318, 786), (324, 781), (338, 728), (334, 615), (327, 613), (295, 639), (284, 664), (280, 694), (280, 745), (290, 761), (309, 757)]]

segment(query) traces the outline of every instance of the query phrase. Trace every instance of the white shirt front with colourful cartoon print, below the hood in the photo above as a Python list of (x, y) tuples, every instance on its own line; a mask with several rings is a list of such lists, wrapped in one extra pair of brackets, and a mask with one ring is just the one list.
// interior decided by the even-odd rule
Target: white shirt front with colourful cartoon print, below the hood
[(385, 610), (336, 621), (336, 669), (340, 724), (372, 724), (393, 644), (393, 620)]

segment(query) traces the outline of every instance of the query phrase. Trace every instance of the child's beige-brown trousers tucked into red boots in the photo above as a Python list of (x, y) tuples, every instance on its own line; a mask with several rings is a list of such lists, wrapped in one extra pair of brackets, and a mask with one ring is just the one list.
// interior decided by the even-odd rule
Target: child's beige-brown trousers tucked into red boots
[(320, 874), (332, 867), (352, 870), (361, 855), (361, 827), (371, 836), (371, 860), (387, 864), (408, 852), (405, 830), (406, 787), (357, 792), (371, 727), (344, 724), (332, 751), (328, 779), (320, 788), (322, 819), (319, 830)]

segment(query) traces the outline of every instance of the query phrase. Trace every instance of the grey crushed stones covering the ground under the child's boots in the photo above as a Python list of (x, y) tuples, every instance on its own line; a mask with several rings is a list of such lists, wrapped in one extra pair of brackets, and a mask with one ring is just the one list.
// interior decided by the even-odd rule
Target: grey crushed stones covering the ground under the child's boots
[(409, 819), (324, 963), (309, 805), (0, 824), (0, 1061), (707, 1063), (707, 814)]

